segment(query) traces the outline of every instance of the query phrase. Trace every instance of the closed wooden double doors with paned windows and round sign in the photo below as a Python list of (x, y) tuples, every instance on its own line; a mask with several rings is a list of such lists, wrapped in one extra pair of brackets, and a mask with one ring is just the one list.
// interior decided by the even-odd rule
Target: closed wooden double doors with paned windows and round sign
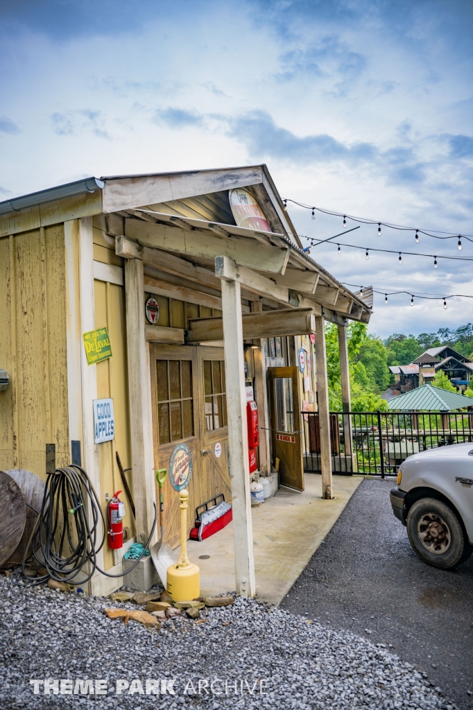
[[(164, 493), (164, 541), (180, 542), (179, 493), (170, 484), (170, 459), (185, 444), (192, 459), (187, 486), (187, 534), (195, 509), (223, 493), (232, 500), (228, 467), (227, 399), (223, 348), (150, 345), (154, 464), (168, 469)], [(156, 500), (159, 500), (156, 484)]]

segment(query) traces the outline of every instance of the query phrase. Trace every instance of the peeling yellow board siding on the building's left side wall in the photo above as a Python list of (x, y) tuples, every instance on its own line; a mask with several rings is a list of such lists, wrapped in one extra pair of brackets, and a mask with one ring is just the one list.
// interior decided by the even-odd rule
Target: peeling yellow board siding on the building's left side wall
[(69, 463), (62, 224), (0, 239), (0, 467), (45, 479), (45, 444)]

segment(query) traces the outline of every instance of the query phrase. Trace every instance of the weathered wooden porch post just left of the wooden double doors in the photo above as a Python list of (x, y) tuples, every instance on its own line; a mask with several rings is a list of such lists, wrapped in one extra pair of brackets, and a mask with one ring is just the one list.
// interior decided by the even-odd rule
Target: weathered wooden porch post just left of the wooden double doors
[[(153, 435), (149, 346), (145, 337), (143, 261), (125, 261), (126, 346), (130, 398), (131, 460), (136, 506), (136, 542), (148, 540), (154, 520)], [(156, 542), (156, 531), (150, 546)]]

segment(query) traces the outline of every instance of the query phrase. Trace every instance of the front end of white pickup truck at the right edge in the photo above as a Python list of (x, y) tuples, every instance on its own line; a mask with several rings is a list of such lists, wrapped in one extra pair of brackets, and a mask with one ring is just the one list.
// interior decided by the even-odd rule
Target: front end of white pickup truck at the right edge
[(473, 552), (473, 443), (408, 457), (391, 506), (424, 562), (452, 569)]

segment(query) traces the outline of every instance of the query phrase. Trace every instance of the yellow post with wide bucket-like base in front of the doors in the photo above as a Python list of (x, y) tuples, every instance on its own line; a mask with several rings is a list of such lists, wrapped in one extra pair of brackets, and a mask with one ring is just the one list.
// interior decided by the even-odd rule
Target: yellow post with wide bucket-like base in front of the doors
[(200, 596), (200, 569), (187, 557), (187, 500), (189, 493), (184, 488), (180, 497), (180, 558), (167, 570), (167, 591), (174, 601), (192, 601)]

